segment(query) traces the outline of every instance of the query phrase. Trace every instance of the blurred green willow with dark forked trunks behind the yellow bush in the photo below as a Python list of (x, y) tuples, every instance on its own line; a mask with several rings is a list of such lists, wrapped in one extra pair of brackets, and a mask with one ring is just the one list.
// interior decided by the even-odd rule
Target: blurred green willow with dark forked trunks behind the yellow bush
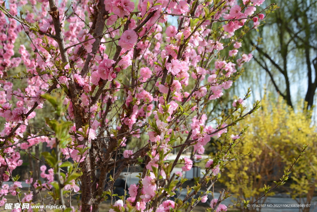
[[(308, 103), (305, 109), (312, 110), (317, 87), (317, 3), (291, 0), (280, 1), (278, 6), (259, 26), (262, 39), (256, 39), (254, 32), (243, 38), (247, 48), (254, 46), (257, 64), (247, 68), (243, 79), (253, 76), (251, 81), (256, 86), (257, 82), (268, 82), (268, 88), (281, 95), (289, 106), (304, 99)], [(260, 85), (254, 90), (263, 95), (262, 88)]]

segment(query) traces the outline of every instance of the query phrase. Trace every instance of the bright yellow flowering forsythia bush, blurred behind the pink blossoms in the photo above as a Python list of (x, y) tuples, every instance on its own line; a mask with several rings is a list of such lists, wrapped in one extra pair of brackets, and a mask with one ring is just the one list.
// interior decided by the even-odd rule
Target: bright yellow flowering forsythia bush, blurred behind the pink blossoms
[(256, 114), (239, 122), (241, 129), (248, 129), (234, 148), (236, 161), (226, 165), (219, 181), (239, 199), (253, 202), (263, 195), (264, 184), (273, 187), (273, 181), (290, 168), (303, 144), (309, 144), (293, 167), (288, 183), (275, 192), (287, 191), (293, 198), (307, 197), (305, 202), (310, 202), (317, 187), (316, 127), (311, 126), (306, 112), (295, 113), (282, 99), (277, 103), (264, 99), (261, 105)]

